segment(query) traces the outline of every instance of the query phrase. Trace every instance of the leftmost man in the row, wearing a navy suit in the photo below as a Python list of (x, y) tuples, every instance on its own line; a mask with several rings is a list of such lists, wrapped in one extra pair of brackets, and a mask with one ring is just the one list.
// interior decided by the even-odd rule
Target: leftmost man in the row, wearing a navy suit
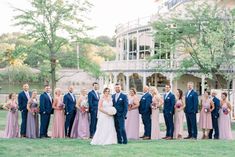
[(28, 100), (31, 97), (31, 93), (29, 92), (29, 85), (25, 83), (23, 85), (23, 91), (19, 93), (18, 96), (18, 104), (19, 104), (19, 110), (21, 111), (21, 129), (20, 129), (20, 135), (21, 137), (26, 137), (26, 124), (27, 124), (27, 103)]

